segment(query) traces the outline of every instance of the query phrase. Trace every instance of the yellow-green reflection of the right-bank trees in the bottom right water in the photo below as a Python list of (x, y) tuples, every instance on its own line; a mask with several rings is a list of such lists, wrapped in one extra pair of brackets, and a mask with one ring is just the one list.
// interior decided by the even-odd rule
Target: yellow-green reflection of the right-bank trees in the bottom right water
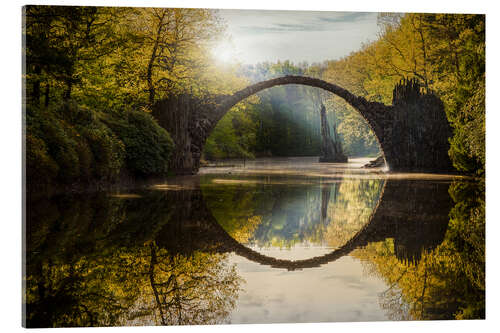
[(398, 259), (390, 239), (353, 253), (389, 286), (380, 304), (392, 320), (485, 317), (484, 183), (455, 181), (449, 194), (454, 207), (444, 239), (419, 260)]

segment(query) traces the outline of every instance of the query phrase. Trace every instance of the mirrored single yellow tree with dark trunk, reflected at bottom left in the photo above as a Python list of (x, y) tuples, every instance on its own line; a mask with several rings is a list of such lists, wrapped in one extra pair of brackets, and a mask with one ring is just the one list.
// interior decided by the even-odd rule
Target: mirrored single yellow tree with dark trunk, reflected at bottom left
[(154, 244), (150, 248), (149, 279), (159, 313), (155, 322), (222, 323), (235, 305), (241, 280), (234, 266), (225, 263), (227, 255), (196, 252), (191, 257), (172, 257)]

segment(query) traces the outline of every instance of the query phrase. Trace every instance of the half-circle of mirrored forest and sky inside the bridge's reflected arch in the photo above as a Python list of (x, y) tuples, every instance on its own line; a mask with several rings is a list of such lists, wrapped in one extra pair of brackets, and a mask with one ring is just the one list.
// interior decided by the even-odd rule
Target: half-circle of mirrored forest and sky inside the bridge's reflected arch
[[(384, 179), (203, 178), (204, 201), (234, 240), (277, 259), (302, 260), (340, 248), (370, 222)], [(308, 251), (314, 250), (314, 251)]]

